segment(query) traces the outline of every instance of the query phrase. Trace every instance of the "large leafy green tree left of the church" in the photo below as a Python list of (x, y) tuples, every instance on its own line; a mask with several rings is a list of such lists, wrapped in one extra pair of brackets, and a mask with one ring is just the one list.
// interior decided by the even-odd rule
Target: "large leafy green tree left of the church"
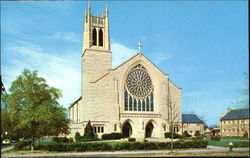
[(47, 85), (44, 78), (38, 77), (37, 71), (25, 69), (12, 82), (6, 104), (13, 132), (21, 134), (18, 137), (30, 138), (32, 150), (35, 139), (68, 134), (66, 109), (57, 101), (61, 96), (60, 90)]

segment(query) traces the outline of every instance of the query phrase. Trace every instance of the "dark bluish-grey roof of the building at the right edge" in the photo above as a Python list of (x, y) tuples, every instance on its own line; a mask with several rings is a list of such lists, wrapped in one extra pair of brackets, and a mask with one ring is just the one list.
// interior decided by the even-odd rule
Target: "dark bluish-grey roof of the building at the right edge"
[(225, 114), (220, 120), (239, 120), (249, 119), (249, 109), (231, 110)]

